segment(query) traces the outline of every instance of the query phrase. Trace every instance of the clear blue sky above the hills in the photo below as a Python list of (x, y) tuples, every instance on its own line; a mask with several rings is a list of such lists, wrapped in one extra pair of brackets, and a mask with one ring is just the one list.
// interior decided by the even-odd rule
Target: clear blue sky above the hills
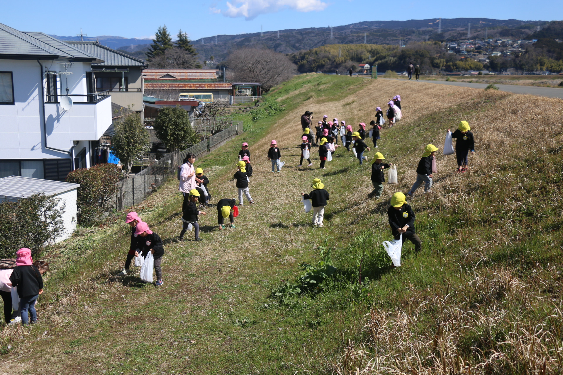
[(491, 19), (563, 20), (560, 0), (535, 7), (529, 1), (475, 0), (203, 0), (203, 1), (57, 1), (0, 0), (0, 22), (21, 31), (90, 37), (114, 35), (150, 38), (159, 25), (190, 39), (216, 34), (327, 27), (360, 21), (486, 17)]

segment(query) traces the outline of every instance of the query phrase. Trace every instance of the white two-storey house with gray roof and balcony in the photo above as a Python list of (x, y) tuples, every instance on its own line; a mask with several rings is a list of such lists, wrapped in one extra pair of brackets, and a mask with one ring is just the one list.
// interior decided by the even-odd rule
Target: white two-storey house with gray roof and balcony
[[(0, 24), (0, 178), (64, 181), (90, 167), (91, 141), (111, 125), (111, 97), (96, 93), (104, 62), (46, 34)], [(73, 106), (61, 107), (69, 96)]]

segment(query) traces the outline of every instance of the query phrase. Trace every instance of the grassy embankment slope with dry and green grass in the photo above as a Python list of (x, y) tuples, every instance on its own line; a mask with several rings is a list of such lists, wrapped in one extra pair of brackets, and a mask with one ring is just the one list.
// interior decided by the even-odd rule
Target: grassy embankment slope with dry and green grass
[[(203, 243), (173, 242), (180, 197), (175, 182), (160, 189), (140, 213), (167, 242), (161, 288), (115, 276), (128, 241), (123, 225), (90, 234), (97, 242), (78, 238), (72, 246), (92, 243), (88, 258), (65, 265), (65, 277), (62, 266), (51, 276), (47, 290), (56, 292), (50, 307), (42, 301), (43, 324), (29, 334), (5, 331), (22, 338), (11, 342), (3, 371), (350, 373), (377, 356), (388, 371), (409, 373), (455, 373), (467, 365), (472, 373), (529, 373), (544, 363), (544, 373), (556, 372), (558, 352), (547, 350), (561, 346), (563, 332), (554, 310), (563, 265), (562, 102), (436, 86), (313, 74), (276, 88), (271, 96), (286, 111), (200, 161), (212, 171), (214, 201), (234, 197), (238, 146), (251, 143), (258, 204), (241, 208), (237, 228), (217, 231), (213, 208), (200, 216)], [(378, 151), (397, 164), (400, 184), (386, 186), (380, 200), (367, 198), (372, 160), (359, 166), (342, 148), (327, 170), (316, 169), (315, 149), (315, 169), (295, 168), (303, 111), (356, 128), (396, 94), (404, 119), (382, 131)], [(412, 184), (423, 146), (441, 147), (445, 129), (462, 119), (477, 139), (471, 171), (455, 174), (454, 157), (439, 155), (434, 192), (410, 200), (423, 251), (414, 256), (405, 244), (403, 265), (391, 269), (379, 246), (391, 238), (388, 198)], [(265, 160), (271, 139), (287, 162), (279, 174)], [(315, 177), (331, 197), (324, 228), (310, 227), (300, 203)], [(319, 246), (331, 249), (338, 271), (305, 290), (296, 279), (299, 264), (316, 266)], [(318, 270), (310, 269), (311, 277)], [(272, 289), (280, 296), (271, 297)], [(504, 354), (485, 364), (493, 351)]]

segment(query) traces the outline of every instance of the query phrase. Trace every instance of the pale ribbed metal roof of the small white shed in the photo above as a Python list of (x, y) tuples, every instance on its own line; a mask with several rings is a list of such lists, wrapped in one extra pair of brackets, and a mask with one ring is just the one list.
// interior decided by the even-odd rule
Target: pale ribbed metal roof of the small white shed
[(43, 180), (39, 178), (8, 176), (0, 178), (0, 200), (27, 198), (37, 193), (60, 194), (78, 188), (80, 184)]

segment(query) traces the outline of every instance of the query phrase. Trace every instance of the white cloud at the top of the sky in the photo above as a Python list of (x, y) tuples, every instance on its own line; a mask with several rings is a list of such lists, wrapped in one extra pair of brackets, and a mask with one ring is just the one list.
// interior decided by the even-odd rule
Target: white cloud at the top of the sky
[[(321, 11), (328, 6), (321, 0), (235, 0), (234, 4), (227, 1), (227, 9), (222, 10), (224, 16), (244, 17), (247, 21), (265, 13), (274, 13), (284, 9), (299, 12)], [(212, 11), (215, 12), (215, 9)]]

